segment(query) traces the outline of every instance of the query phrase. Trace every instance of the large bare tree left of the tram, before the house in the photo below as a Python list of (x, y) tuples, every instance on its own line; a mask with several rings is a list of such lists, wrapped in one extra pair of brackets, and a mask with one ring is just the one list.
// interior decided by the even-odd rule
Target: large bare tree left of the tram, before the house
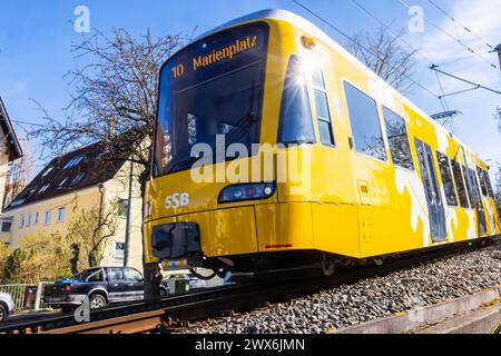
[[(82, 145), (105, 142), (110, 159), (135, 164), (144, 197), (150, 171), (149, 142), (159, 70), (183, 41), (180, 34), (154, 39), (147, 31), (135, 38), (119, 29), (110, 37), (97, 32), (75, 46), (76, 58), (87, 65), (68, 73), (75, 93), (67, 119), (61, 122), (42, 109), (46, 125), (32, 136), (50, 150), (46, 154), (58, 156)], [(159, 294), (159, 270), (157, 265), (148, 264), (144, 269), (145, 294), (149, 298)]]

